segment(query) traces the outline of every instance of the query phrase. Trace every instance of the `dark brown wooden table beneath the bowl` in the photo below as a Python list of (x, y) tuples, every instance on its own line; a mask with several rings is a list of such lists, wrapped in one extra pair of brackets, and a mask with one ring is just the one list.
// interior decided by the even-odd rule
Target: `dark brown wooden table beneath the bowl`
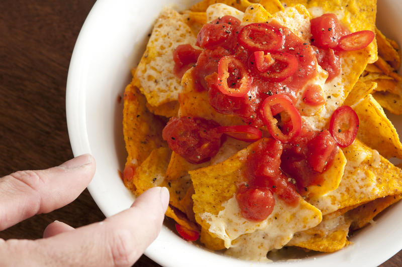
[[(67, 71), (94, 2), (1, 1), (0, 177), (56, 166), (73, 157), (65, 116)], [(104, 218), (85, 190), (66, 207), (27, 219), (0, 232), (0, 238), (41, 238), (46, 225), (56, 219), (79, 227)], [(401, 265), (399, 251), (381, 266)], [(135, 266), (159, 265), (143, 255)]]

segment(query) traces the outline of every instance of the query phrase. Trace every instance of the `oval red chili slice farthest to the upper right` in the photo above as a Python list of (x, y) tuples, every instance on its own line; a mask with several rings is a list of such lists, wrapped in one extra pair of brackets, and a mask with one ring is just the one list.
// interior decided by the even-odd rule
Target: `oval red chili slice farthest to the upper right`
[(339, 39), (338, 49), (345, 51), (360, 50), (368, 46), (374, 40), (372, 31), (360, 31), (343, 36)]

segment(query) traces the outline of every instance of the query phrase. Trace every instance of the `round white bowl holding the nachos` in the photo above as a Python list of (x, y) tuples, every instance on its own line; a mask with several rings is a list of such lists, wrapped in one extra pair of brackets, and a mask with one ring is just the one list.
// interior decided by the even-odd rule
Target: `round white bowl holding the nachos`
[[(186, 0), (97, 1), (81, 29), (71, 58), (67, 79), (66, 111), (74, 155), (91, 153), (96, 173), (88, 186), (96, 204), (111, 216), (128, 208), (134, 198), (124, 187), (118, 170), (124, 169), (126, 151), (122, 130), (123, 95), (131, 80), (130, 69), (138, 63), (161, 8), (175, 4), (188, 7)], [(378, 26), (402, 44), (402, 2), (378, 1)], [(181, 8), (180, 8), (181, 7)], [(392, 116), (394, 123), (398, 117)], [(397, 123), (400, 124), (400, 123)], [(400, 125), (398, 125), (400, 126)], [(402, 132), (402, 127), (399, 127)], [(402, 249), (399, 222), (402, 203), (397, 203), (352, 238), (353, 244), (329, 254), (319, 254), (275, 266), (375, 266)], [(167, 227), (148, 247), (146, 255), (164, 266), (262, 266), (210, 252), (184, 241)]]

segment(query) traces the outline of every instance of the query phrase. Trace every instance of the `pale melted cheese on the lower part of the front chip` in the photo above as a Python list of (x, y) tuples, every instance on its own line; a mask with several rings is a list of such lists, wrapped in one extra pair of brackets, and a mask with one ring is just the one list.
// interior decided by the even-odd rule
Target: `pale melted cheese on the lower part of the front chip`
[(223, 204), (218, 215), (203, 213), (201, 218), (210, 224), (209, 231), (225, 241), (226, 253), (252, 260), (266, 260), (273, 248), (283, 247), (295, 232), (316, 226), (321, 222), (321, 213), (301, 200), (291, 207), (276, 195), (272, 213), (261, 222), (253, 222), (241, 215), (234, 197)]

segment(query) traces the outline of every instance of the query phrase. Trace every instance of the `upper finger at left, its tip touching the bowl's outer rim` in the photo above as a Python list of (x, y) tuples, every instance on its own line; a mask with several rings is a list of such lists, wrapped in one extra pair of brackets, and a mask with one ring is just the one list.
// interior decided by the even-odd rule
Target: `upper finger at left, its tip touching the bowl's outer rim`
[(81, 155), (41, 171), (20, 171), (0, 179), (0, 231), (35, 214), (72, 202), (95, 172), (95, 160)]

